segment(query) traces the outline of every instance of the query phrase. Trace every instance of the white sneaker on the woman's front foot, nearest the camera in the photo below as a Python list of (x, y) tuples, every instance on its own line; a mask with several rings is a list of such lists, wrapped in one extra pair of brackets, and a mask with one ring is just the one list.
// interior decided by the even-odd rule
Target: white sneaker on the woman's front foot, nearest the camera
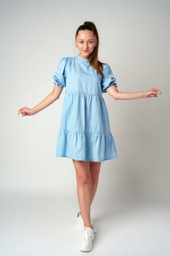
[(94, 230), (91, 227), (84, 227), (82, 233), (82, 241), (80, 244), (81, 252), (90, 252), (93, 248), (93, 238), (94, 238)]

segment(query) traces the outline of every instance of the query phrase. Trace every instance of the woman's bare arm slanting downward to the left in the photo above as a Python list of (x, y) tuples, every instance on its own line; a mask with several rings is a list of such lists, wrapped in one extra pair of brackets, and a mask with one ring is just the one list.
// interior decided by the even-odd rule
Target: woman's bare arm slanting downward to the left
[(55, 102), (55, 100), (60, 97), (62, 91), (62, 87), (55, 85), (53, 91), (51, 91), (50, 94), (48, 94), (47, 97), (45, 97), (45, 99), (42, 100), (42, 102), (39, 102), (39, 104), (34, 106), (34, 108), (20, 108), (18, 110), (18, 114), (21, 114), (22, 116), (33, 116), (34, 114), (38, 113), (44, 108), (47, 108), (49, 105)]

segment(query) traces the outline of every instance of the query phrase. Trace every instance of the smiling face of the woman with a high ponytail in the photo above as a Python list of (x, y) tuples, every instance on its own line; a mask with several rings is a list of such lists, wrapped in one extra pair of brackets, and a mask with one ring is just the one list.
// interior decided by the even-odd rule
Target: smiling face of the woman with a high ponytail
[(90, 30), (80, 30), (76, 37), (76, 46), (79, 50), (79, 55), (82, 58), (88, 59), (90, 53), (93, 53), (96, 47), (97, 39)]

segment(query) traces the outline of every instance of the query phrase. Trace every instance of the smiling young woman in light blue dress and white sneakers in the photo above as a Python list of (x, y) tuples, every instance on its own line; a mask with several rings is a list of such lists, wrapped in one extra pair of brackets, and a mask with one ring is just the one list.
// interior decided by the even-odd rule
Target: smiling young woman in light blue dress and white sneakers
[(117, 157), (110, 132), (107, 108), (102, 93), (113, 99), (157, 97), (159, 89), (140, 92), (117, 90), (115, 76), (108, 64), (98, 61), (98, 31), (85, 22), (76, 31), (78, 56), (62, 58), (54, 73), (53, 91), (34, 108), (20, 108), (22, 116), (32, 116), (58, 99), (66, 87), (57, 156), (72, 159), (77, 176), (79, 219), (83, 221), (80, 251), (90, 252), (96, 233), (90, 219), (90, 206), (96, 194), (101, 162)]

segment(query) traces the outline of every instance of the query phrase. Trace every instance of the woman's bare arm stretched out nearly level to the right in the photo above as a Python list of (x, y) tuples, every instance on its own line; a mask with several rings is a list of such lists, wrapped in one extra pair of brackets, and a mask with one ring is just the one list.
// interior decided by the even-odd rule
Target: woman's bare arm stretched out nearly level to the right
[(113, 85), (107, 88), (107, 93), (114, 99), (142, 99), (157, 97), (158, 94), (161, 94), (161, 91), (156, 88), (138, 92), (118, 91), (116, 86)]

